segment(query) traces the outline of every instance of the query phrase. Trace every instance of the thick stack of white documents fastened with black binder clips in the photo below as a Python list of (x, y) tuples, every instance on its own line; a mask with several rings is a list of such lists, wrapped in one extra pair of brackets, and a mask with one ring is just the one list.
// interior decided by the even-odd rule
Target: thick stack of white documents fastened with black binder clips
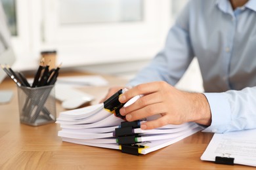
[[(143, 121), (155, 118), (156, 116)], [(124, 120), (105, 110), (103, 103), (60, 112), (56, 120), (56, 123), (60, 124), (62, 128), (58, 131), (58, 136), (62, 137), (63, 141), (117, 150), (122, 150), (123, 146), (117, 143), (118, 138), (115, 135), (115, 130), (120, 127), (121, 122), (124, 122)], [(135, 141), (140, 148), (138, 154), (148, 154), (176, 143), (200, 130), (202, 130), (202, 127), (189, 122), (151, 130), (142, 130), (140, 127), (135, 127), (133, 132), (137, 134), (135, 135)]]

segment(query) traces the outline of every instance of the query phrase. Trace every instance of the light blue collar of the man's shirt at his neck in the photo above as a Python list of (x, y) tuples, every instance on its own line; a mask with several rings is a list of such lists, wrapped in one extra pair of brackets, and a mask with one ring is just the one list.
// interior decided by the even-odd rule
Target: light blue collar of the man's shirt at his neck
[[(216, 0), (215, 4), (219, 7), (219, 9), (223, 10), (223, 12), (230, 12), (233, 11), (232, 6), (230, 4), (229, 0)], [(256, 1), (255, 0), (249, 0), (247, 3), (245, 3), (244, 7), (247, 9), (251, 9), (256, 12)]]

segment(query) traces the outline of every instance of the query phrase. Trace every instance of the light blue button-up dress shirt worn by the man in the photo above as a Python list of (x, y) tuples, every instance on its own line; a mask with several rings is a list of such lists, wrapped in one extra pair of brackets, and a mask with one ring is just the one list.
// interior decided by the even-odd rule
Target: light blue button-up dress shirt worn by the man
[(128, 85), (175, 85), (195, 56), (212, 114), (204, 131), (256, 128), (256, 1), (236, 10), (228, 0), (189, 1), (163, 50)]

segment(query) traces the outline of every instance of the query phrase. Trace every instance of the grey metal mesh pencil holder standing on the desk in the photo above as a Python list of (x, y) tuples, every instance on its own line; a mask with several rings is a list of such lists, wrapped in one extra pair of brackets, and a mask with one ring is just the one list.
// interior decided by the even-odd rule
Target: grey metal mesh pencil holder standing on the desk
[(28, 88), (18, 86), (20, 122), (40, 126), (56, 121), (54, 85)]

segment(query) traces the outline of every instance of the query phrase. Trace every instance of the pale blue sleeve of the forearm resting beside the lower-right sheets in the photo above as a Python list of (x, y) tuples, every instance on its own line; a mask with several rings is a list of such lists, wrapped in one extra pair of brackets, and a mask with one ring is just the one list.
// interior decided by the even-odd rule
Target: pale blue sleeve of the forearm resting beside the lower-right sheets
[(211, 126), (204, 132), (224, 133), (256, 128), (256, 87), (204, 93), (211, 108)]

